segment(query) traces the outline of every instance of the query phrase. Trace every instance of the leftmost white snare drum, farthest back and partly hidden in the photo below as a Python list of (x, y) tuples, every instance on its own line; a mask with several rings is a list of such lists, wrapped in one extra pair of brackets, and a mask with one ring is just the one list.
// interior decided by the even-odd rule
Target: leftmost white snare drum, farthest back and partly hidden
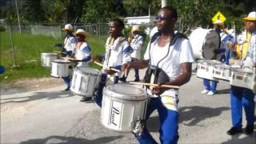
[(56, 53), (42, 53), (41, 54), (41, 65), (44, 67), (51, 67), (51, 61), (58, 58)]

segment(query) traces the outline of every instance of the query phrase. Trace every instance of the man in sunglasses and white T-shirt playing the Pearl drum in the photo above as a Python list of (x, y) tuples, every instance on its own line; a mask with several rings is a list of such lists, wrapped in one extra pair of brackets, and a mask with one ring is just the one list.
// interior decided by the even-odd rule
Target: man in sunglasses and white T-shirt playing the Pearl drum
[[(146, 87), (150, 100), (146, 110), (146, 119), (154, 110), (158, 110), (160, 122), (160, 142), (178, 142), (178, 90), (163, 88), (161, 85), (182, 86), (190, 81), (194, 56), (190, 41), (184, 34), (174, 34), (177, 11), (163, 7), (156, 17), (158, 33), (151, 38), (144, 59), (130, 62), (124, 66), (143, 69), (148, 67), (145, 82), (154, 82), (158, 86)], [(142, 133), (134, 133), (141, 144), (157, 143), (150, 132), (143, 128)]]

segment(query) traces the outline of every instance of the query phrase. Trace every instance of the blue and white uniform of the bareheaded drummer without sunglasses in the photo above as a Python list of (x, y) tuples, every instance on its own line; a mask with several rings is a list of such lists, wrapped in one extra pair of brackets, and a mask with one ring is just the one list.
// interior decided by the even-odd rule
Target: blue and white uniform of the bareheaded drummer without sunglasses
[[(118, 37), (114, 39), (109, 37), (106, 40), (105, 48), (106, 54), (103, 62), (103, 70), (107, 70), (110, 67), (121, 70), (123, 64), (131, 61), (130, 54), (133, 52), (133, 49), (131, 48), (126, 38)], [(121, 74), (122, 73), (115, 74), (114, 83), (118, 83), (118, 79), (120, 78)], [(106, 86), (106, 78), (107, 74), (103, 72), (95, 99), (95, 102), (98, 104), (98, 106), (102, 106), (102, 90), (104, 86)]]

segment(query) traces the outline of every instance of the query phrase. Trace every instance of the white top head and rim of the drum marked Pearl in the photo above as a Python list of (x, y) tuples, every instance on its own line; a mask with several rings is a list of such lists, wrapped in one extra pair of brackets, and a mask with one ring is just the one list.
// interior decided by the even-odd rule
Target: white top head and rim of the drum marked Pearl
[(130, 84), (114, 84), (104, 88), (104, 95), (120, 100), (144, 100), (146, 91)]

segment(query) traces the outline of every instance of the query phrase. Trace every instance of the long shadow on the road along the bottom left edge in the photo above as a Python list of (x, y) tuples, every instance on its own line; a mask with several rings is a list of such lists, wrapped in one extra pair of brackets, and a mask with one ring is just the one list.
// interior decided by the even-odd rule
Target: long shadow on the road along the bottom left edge
[(102, 137), (102, 138), (96, 138), (96, 139), (86, 139), (86, 138), (74, 138), (74, 137), (63, 137), (63, 136), (50, 136), (48, 138), (43, 139), (30, 139), (25, 142), (20, 142), (20, 144), (50, 144), (50, 143), (62, 143), (62, 144), (100, 144), (100, 143), (106, 143), (111, 142), (116, 139), (122, 138), (122, 136), (111, 136), (111, 137)]

